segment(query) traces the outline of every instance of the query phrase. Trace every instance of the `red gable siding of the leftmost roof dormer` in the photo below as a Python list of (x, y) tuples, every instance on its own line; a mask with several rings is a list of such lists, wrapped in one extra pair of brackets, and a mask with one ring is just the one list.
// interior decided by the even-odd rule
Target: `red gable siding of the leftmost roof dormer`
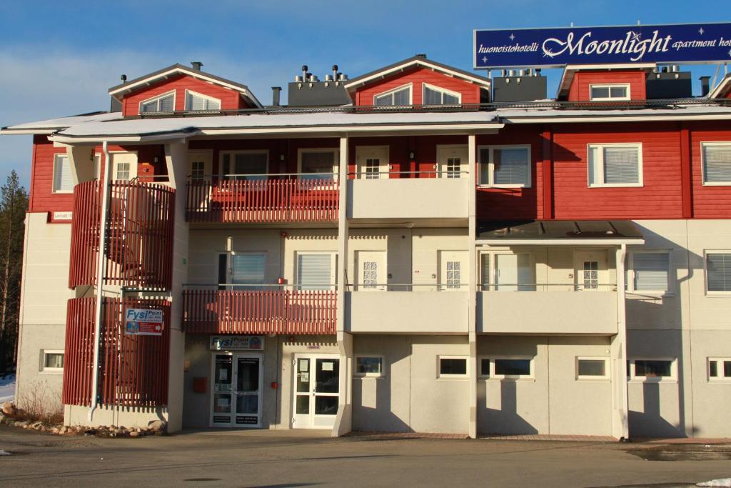
[(175, 110), (185, 110), (186, 89), (221, 100), (221, 110), (246, 108), (246, 102), (240, 100), (240, 91), (208, 83), (189, 75), (175, 75), (126, 95), (122, 100), (122, 113), (124, 116), (140, 115), (140, 102), (173, 90), (175, 90)]

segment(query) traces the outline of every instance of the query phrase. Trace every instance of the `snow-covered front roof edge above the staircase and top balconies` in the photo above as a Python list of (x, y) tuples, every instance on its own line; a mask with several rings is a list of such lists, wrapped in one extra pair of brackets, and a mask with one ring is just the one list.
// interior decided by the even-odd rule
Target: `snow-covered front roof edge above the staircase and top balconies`
[(127, 119), (118, 121), (87, 121), (59, 132), (69, 138), (95, 136), (151, 136), (164, 134), (192, 135), (192, 133), (240, 130), (262, 132), (270, 129), (306, 129), (325, 132), (328, 129), (363, 129), (365, 127), (485, 125), (499, 128), (493, 112), (420, 112), (420, 113), (254, 113), (235, 116), (175, 117), (165, 119)]

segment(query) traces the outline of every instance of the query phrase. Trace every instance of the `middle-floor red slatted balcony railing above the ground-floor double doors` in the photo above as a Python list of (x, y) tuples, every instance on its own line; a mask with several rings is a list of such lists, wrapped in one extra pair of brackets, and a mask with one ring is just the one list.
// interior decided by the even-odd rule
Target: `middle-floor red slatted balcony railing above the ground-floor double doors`
[(208, 334), (335, 334), (333, 290), (183, 290), (183, 328)]

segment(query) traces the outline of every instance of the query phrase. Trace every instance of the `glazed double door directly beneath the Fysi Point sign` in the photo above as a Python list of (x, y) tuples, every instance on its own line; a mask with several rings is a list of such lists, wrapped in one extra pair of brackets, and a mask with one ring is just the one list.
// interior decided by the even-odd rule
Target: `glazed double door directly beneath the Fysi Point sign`
[(214, 353), (211, 427), (262, 427), (262, 355)]

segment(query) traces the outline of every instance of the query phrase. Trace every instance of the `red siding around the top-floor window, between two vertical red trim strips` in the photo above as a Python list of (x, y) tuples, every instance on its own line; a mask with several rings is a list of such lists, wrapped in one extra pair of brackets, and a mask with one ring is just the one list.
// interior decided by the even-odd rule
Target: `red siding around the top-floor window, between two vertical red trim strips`
[[(556, 219), (682, 218), (677, 124), (557, 126), (553, 135)], [(643, 187), (589, 188), (587, 144), (641, 143)]]

